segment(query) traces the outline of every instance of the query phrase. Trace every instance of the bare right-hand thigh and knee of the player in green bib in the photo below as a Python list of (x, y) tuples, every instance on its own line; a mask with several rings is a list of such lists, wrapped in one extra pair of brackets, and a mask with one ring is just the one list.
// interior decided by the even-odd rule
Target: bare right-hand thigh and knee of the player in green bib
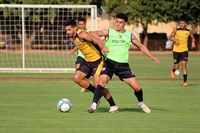
[(136, 77), (132, 77), (132, 78), (125, 78), (123, 79), (123, 81), (125, 83), (127, 83), (132, 89), (134, 89), (135, 91), (139, 91), (140, 90), (140, 85), (136, 79)]

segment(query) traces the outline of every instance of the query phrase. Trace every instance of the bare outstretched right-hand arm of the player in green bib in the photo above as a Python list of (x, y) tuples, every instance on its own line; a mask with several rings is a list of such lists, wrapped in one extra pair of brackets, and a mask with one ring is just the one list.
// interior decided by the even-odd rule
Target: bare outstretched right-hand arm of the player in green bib
[(141, 42), (139, 42), (134, 35), (132, 35), (132, 43), (134, 43), (145, 55), (151, 58), (154, 62), (158, 64), (160, 63), (159, 60), (150, 53), (147, 47), (145, 47)]

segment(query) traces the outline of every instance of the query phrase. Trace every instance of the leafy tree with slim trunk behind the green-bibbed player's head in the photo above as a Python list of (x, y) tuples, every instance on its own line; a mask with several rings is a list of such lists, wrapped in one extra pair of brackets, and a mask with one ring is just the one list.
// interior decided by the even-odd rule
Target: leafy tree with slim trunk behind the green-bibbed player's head
[(158, 22), (167, 22), (168, 18), (164, 14), (170, 7), (164, 0), (106, 0), (106, 10), (115, 15), (123, 12), (129, 17), (129, 24), (141, 24), (145, 35), (144, 45), (147, 45), (147, 30), (149, 24), (158, 24)]

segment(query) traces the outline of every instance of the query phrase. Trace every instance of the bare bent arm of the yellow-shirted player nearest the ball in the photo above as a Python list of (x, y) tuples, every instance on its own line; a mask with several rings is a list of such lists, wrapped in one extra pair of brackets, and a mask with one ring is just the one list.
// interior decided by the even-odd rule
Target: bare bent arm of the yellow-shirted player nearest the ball
[(91, 33), (87, 33), (87, 32), (81, 32), (79, 34), (79, 38), (80, 40), (87, 40), (87, 41), (91, 41), (93, 42), (94, 44), (97, 44), (99, 46), (99, 48), (101, 49), (101, 52), (103, 54), (105, 53), (108, 53), (109, 50), (105, 47), (103, 41), (101, 40), (100, 37), (97, 37), (97, 36), (93, 36)]

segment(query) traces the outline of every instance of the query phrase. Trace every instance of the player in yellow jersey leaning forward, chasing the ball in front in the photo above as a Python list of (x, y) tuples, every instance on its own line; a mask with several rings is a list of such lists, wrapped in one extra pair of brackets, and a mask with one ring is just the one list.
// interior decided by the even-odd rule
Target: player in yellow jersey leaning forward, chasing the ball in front
[[(67, 34), (73, 38), (76, 47), (85, 56), (85, 61), (80, 64), (79, 68), (74, 74), (74, 82), (83, 88), (94, 93), (95, 87), (99, 82), (99, 75), (103, 67), (104, 58), (102, 53), (107, 53), (108, 49), (104, 46), (103, 41), (99, 37), (94, 37), (88, 32), (78, 30), (75, 20), (69, 19), (65, 23), (65, 29)], [(101, 51), (99, 51), (94, 45), (98, 45)], [(85, 79), (88, 74), (93, 75), (94, 86)], [(103, 96), (109, 102), (110, 106), (116, 106), (110, 92), (104, 89)]]

